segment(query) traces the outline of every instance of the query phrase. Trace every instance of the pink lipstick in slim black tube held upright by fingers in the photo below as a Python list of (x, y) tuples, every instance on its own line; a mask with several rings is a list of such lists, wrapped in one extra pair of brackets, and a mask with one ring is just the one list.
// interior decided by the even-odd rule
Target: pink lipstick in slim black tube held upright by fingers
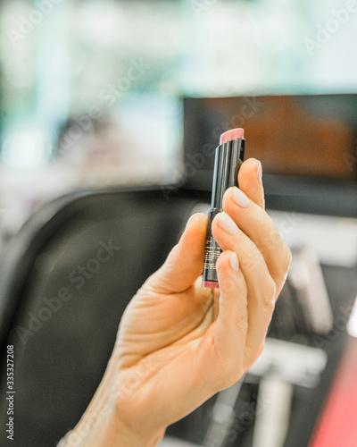
[(223, 195), (231, 186), (238, 186), (238, 171), (245, 157), (245, 131), (232, 129), (220, 135), (220, 146), (214, 159), (212, 203), (208, 212), (204, 246), (203, 287), (218, 289), (216, 262), (222, 250), (212, 237), (212, 221), (222, 211)]

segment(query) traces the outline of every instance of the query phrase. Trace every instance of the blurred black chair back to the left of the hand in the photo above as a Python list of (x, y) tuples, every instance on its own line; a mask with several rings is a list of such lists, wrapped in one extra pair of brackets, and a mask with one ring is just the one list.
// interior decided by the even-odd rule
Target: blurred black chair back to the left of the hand
[[(0, 342), (15, 355), (10, 444), (55, 445), (99, 384), (120, 316), (167, 256), (196, 203), (152, 188), (77, 193), (42, 207), (0, 268)], [(1, 367), (5, 392), (4, 361)], [(7, 421), (2, 400), (1, 421)]]

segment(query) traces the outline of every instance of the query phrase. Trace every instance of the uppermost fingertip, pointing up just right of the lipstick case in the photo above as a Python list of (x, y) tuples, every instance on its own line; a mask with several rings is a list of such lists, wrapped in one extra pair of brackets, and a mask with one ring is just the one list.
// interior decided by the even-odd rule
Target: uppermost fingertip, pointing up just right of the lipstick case
[(239, 189), (264, 209), (264, 189), (262, 187), (262, 164), (255, 158), (249, 158), (241, 165), (238, 173)]

